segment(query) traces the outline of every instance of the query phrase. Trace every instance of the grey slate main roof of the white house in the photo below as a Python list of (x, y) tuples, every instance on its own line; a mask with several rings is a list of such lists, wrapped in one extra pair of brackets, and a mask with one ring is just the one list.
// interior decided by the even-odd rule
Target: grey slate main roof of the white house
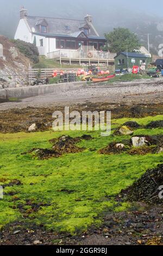
[[(30, 28), (35, 28), (35, 33), (39, 33), (39, 26), (41, 22), (47, 22), (49, 34), (68, 34), (71, 35), (78, 32), (81, 27), (87, 26), (87, 22), (84, 20), (72, 20), (72, 19), (58, 19), (49, 17), (26, 17)], [(95, 30), (90, 26), (91, 35), (96, 35)]]

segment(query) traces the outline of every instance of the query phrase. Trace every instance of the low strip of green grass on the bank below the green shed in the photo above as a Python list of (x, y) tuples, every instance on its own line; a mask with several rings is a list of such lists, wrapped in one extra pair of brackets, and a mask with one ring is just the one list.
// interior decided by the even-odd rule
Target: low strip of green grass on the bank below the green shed
[(116, 76), (109, 80), (109, 83), (114, 82), (129, 82), (137, 79), (150, 79), (148, 75), (139, 75), (139, 74), (124, 74), (122, 76)]

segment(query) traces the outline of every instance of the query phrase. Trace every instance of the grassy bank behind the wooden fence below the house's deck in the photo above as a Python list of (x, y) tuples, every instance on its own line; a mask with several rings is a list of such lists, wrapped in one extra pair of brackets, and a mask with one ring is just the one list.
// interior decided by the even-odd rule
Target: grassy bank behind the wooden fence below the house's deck
[(39, 57), (39, 63), (33, 65), (34, 69), (73, 69), (73, 68), (80, 68), (80, 65), (69, 65), (69, 64), (62, 64), (60, 65), (54, 59), (47, 59), (45, 56)]

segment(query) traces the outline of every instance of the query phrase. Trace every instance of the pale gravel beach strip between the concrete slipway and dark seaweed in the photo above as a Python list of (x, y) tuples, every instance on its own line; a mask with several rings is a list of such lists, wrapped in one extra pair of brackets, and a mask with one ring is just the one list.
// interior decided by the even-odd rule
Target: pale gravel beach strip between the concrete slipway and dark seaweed
[(20, 102), (4, 102), (0, 110), (24, 107), (45, 107), (74, 105), (87, 101), (121, 103), (134, 105), (139, 103), (159, 103), (163, 99), (163, 78), (136, 80), (113, 84), (96, 84), (84, 88), (72, 89), (62, 93), (52, 93), (29, 97)]

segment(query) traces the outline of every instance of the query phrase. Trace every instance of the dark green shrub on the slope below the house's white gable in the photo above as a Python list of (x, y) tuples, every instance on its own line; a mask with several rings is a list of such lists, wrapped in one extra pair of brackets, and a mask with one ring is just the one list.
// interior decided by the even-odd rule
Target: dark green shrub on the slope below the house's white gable
[(39, 51), (34, 44), (30, 44), (30, 42), (24, 42), (22, 40), (12, 40), (15, 44), (15, 47), (24, 54), (27, 58), (29, 58), (33, 63), (39, 62)]

